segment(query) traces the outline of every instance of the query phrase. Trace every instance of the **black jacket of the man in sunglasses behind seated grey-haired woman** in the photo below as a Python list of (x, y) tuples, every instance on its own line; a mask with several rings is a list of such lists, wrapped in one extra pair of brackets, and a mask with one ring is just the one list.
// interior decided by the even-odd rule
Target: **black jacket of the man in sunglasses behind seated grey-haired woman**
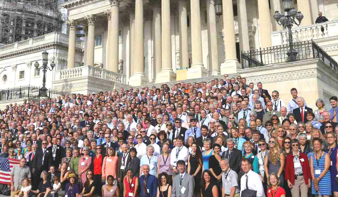
[(48, 150), (47, 148), (45, 158), (42, 163), (43, 151), (42, 151), (42, 148), (38, 148), (37, 151), (35, 152), (32, 169), (35, 169), (38, 174), (42, 172), (43, 170), (48, 171), (48, 167), (50, 166), (49, 162), (51, 161), (50, 159), (51, 157), (52, 157), (52, 152)]

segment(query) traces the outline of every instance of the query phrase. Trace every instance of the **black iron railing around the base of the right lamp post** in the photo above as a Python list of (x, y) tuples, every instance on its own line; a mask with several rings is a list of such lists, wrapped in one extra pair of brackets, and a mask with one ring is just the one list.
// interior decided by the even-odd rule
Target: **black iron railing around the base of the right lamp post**
[[(267, 47), (256, 51), (248, 51), (241, 54), (242, 68), (255, 68), (275, 63), (287, 62), (290, 45), (280, 45)], [(294, 51), (297, 52), (297, 60), (321, 59), (333, 71), (338, 72), (337, 62), (323, 51), (315, 42), (304, 41), (293, 44)]]

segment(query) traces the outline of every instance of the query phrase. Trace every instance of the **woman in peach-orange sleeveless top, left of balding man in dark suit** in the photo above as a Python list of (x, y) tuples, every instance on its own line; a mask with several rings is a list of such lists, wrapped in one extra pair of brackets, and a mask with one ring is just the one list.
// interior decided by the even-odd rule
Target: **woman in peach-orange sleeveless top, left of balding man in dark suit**
[(113, 175), (114, 180), (117, 180), (117, 160), (115, 150), (112, 147), (107, 147), (107, 154), (102, 162), (102, 182), (108, 175)]

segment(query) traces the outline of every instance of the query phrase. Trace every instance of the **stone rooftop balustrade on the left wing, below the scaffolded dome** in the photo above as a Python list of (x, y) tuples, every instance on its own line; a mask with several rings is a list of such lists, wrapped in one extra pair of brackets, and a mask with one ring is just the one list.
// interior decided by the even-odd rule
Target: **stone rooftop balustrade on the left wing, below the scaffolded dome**
[[(33, 37), (9, 45), (0, 47), (0, 54), (6, 54), (13, 51), (24, 50), (38, 45), (44, 45), (49, 43), (61, 43), (68, 45), (68, 36), (63, 33), (52, 32), (42, 36)], [(84, 41), (76, 41), (76, 47), (82, 49)]]

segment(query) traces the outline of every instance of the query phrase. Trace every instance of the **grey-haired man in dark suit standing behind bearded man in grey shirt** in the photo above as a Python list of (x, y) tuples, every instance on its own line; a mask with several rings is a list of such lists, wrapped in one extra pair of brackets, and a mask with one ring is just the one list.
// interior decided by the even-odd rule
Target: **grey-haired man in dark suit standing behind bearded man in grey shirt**
[(226, 140), (226, 145), (228, 149), (222, 153), (222, 158), (229, 160), (230, 168), (233, 169), (236, 173), (239, 173), (239, 167), (242, 159), (242, 151), (234, 148), (234, 140), (229, 138)]

